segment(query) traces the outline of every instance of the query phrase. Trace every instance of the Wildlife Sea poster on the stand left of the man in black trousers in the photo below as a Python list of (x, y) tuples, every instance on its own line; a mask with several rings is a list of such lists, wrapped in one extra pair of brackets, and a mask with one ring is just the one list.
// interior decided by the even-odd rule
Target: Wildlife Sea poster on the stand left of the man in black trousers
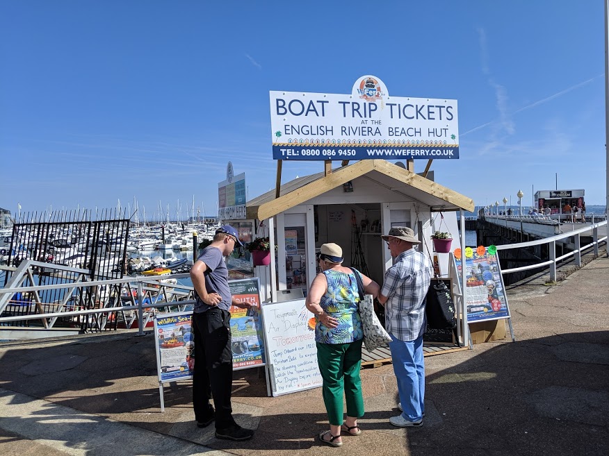
[(193, 378), (195, 338), (192, 328), (193, 312), (156, 315), (154, 340), (159, 382)]

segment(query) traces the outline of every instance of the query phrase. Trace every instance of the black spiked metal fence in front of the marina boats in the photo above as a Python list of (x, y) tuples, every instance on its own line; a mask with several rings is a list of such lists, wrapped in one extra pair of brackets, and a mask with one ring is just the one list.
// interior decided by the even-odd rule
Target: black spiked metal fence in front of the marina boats
[[(49, 264), (60, 264), (70, 269), (58, 271), (33, 268), (27, 285), (58, 285), (75, 282), (83, 273), (90, 280), (122, 278), (127, 264), (127, 239), (129, 219), (125, 211), (103, 210), (95, 214), (91, 211), (53, 212), (52, 214), (26, 213), (13, 225), (13, 235), (8, 247), (7, 264), (18, 267), (24, 260), (35, 260)], [(10, 280), (6, 273), (4, 285)], [(99, 299), (95, 287), (75, 289), (69, 301), (72, 306), (88, 310), (95, 308)], [(66, 300), (65, 289), (51, 289), (40, 294), (42, 304), (32, 305), (32, 296), (15, 294), (1, 316), (18, 316), (52, 312), (57, 303)], [(79, 325), (81, 330), (99, 328), (95, 317), (68, 316), (60, 323), (69, 326)], [(104, 325), (107, 329), (114, 324)], [(14, 322), (13, 326), (29, 326), (29, 321)]]

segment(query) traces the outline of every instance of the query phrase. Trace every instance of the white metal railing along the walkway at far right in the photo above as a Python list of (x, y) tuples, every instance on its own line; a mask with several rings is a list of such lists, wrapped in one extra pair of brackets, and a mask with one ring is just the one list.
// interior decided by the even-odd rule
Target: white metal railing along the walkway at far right
[[(501, 217), (501, 216), (499, 216)], [(509, 217), (509, 216), (508, 216)], [(546, 237), (544, 239), (537, 239), (535, 241), (528, 242), (519, 242), (517, 244), (503, 244), (498, 245), (497, 250), (510, 250), (512, 248), (526, 248), (532, 246), (539, 246), (543, 244), (548, 244), (549, 251), (549, 260), (542, 261), (535, 264), (529, 264), (528, 266), (522, 266), (512, 269), (504, 269), (501, 271), (502, 274), (509, 274), (513, 272), (526, 271), (528, 269), (537, 269), (539, 267), (548, 266), (550, 273), (550, 280), (556, 280), (556, 268), (558, 263), (567, 260), (570, 257), (574, 257), (576, 266), (581, 266), (581, 255), (583, 251), (586, 251), (589, 248), (594, 249), (594, 255), (599, 255), (599, 244), (605, 243), (607, 245), (607, 236), (599, 237), (599, 227), (607, 226), (607, 221), (601, 221), (599, 223), (594, 223), (593, 225), (586, 225), (583, 228), (579, 228), (573, 231), (569, 231), (569, 233), (562, 233), (560, 235), (555, 235), (552, 237)], [(592, 242), (590, 244), (581, 245), (581, 235), (583, 233), (587, 233), (592, 230)], [(562, 241), (563, 239), (567, 239), (569, 237), (574, 238), (574, 250), (565, 253), (564, 255), (560, 255), (560, 257), (556, 256), (556, 242)]]

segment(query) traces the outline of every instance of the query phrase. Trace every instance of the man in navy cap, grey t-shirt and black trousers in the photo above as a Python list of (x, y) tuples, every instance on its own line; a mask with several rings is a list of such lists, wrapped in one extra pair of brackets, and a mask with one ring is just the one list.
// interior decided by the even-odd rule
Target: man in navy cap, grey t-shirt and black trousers
[[(216, 437), (228, 440), (251, 439), (254, 431), (241, 428), (232, 416), (231, 389), (233, 354), (231, 351), (231, 305), (249, 308), (231, 296), (228, 269), (224, 257), (235, 245), (241, 246), (237, 231), (229, 225), (220, 227), (213, 242), (203, 249), (190, 269), (197, 303), (193, 313), (195, 370), (193, 373), (193, 408), (199, 428), (216, 420)], [(213, 397), (216, 410), (209, 400)]]

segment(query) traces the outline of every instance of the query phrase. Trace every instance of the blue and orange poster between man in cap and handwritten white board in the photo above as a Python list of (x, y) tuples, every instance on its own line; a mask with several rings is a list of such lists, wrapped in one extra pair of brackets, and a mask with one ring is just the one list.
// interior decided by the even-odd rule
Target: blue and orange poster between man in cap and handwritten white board
[(250, 309), (231, 306), (231, 350), (233, 368), (263, 366), (265, 347), (261, 319), (260, 282), (258, 278), (229, 280), (233, 298), (250, 303)]

